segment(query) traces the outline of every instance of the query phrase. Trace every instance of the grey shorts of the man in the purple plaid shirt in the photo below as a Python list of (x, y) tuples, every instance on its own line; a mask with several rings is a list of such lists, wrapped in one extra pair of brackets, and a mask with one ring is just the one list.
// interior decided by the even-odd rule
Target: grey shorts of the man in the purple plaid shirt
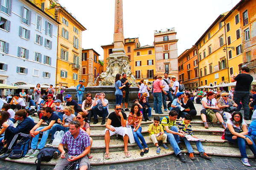
[[(67, 160), (68, 159), (68, 153), (66, 153), (66, 156), (64, 159), (60, 159), (57, 164), (55, 165), (54, 167), (54, 170), (63, 170), (64, 167), (69, 163), (69, 161)], [(88, 156), (84, 156), (81, 158), (81, 161), (79, 163), (79, 169), (84, 166), (84, 165), (87, 165), (87, 169), (89, 170), (90, 169), (90, 161), (88, 159)]]

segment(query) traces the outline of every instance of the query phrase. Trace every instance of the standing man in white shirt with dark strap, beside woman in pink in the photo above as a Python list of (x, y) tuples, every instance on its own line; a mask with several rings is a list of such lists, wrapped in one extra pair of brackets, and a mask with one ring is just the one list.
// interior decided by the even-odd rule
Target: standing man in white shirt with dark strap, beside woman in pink
[(167, 105), (166, 105), (166, 98), (168, 97), (168, 101), (172, 103), (172, 92), (169, 91), (169, 88), (171, 87), (171, 81), (168, 78), (168, 73), (164, 73), (164, 78), (162, 79), (162, 83), (164, 88), (162, 88), (162, 95), (163, 95), (163, 108), (164, 111), (167, 111)]

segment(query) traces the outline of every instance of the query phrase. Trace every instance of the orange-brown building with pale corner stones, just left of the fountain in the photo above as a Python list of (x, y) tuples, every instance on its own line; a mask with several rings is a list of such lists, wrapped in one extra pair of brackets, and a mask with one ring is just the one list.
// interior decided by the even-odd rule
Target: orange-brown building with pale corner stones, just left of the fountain
[(103, 72), (103, 62), (99, 60), (99, 53), (91, 49), (82, 50), (82, 80), (83, 85), (95, 84), (96, 78)]

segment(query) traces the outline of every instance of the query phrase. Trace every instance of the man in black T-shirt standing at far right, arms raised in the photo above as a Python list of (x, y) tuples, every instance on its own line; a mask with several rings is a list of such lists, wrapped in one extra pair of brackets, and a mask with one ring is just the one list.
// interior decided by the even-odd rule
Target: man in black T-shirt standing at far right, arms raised
[(236, 88), (234, 92), (234, 102), (242, 102), (244, 108), (244, 119), (249, 120), (249, 96), (250, 96), (250, 85), (253, 81), (253, 77), (249, 74), (250, 68), (242, 67), (241, 74), (238, 74), (236, 77), (231, 75), (231, 82), (236, 82)]

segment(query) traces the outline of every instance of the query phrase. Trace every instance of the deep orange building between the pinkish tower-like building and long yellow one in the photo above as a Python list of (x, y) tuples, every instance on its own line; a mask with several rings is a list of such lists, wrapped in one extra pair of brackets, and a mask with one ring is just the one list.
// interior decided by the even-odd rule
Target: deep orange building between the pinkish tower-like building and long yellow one
[(185, 50), (178, 57), (179, 79), (182, 79), (186, 90), (192, 91), (199, 87), (198, 49), (196, 45)]

